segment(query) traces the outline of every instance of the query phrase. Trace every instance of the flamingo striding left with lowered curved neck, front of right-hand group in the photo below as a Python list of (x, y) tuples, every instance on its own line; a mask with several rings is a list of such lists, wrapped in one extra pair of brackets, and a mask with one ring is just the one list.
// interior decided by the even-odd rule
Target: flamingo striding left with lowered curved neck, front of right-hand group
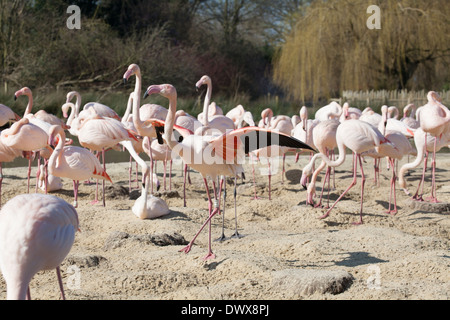
[(362, 224), (362, 211), (363, 211), (363, 200), (364, 200), (364, 183), (365, 176), (364, 170), (361, 161), (361, 153), (365, 151), (369, 151), (375, 147), (378, 147), (380, 144), (389, 143), (389, 141), (381, 134), (381, 132), (370, 125), (367, 122), (350, 119), (342, 122), (336, 130), (336, 143), (339, 150), (339, 157), (335, 161), (331, 161), (322, 153), (317, 153), (311, 159), (308, 165), (303, 168), (305, 174), (310, 175), (312, 171), (312, 166), (317, 158), (322, 158), (323, 161), (330, 167), (338, 167), (342, 165), (345, 161), (345, 147), (348, 147), (354, 153), (353, 160), (353, 181), (350, 186), (339, 196), (339, 198), (334, 202), (334, 204), (327, 210), (327, 212), (322, 215), (320, 218), (324, 219), (329, 216), (331, 210), (336, 206), (336, 204), (342, 199), (342, 197), (356, 184), (357, 178), (357, 168), (358, 161), (361, 168), (361, 208), (360, 208), (360, 219), (359, 222), (355, 224)]

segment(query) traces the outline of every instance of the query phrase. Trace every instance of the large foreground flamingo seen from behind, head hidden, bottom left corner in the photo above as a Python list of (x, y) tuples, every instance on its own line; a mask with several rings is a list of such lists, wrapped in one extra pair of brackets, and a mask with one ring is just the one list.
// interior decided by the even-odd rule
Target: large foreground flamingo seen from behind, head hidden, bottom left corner
[(77, 211), (52, 195), (24, 194), (0, 212), (0, 269), (8, 300), (31, 299), (29, 284), (41, 270), (56, 269), (65, 299), (60, 265), (79, 229)]

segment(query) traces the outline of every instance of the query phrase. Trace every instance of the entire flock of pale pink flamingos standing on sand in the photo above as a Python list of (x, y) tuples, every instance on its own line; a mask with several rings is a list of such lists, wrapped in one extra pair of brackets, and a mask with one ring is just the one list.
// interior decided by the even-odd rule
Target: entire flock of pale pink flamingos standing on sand
[[(332, 168), (344, 163), (346, 148), (350, 149), (353, 153), (353, 180), (335, 203), (327, 207), (327, 212), (321, 218), (326, 218), (339, 200), (355, 186), (359, 166), (362, 178), (361, 209), (356, 224), (361, 224), (365, 181), (361, 158), (374, 159), (376, 178), (379, 161), (387, 159), (392, 168), (389, 213), (395, 214), (397, 180), (400, 187), (410, 194), (404, 179), (405, 172), (424, 161), (425, 174), (428, 154), (432, 153), (432, 191), (427, 200), (438, 201), (435, 193), (435, 156), (439, 149), (450, 144), (450, 111), (434, 91), (428, 93), (428, 102), (424, 106), (417, 109), (413, 104), (406, 106), (401, 119), (398, 119), (399, 111), (395, 107), (383, 106), (381, 114), (378, 114), (370, 108), (361, 111), (349, 107), (348, 103), (341, 107), (332, 102), (320, 108), (314, 119), (308, 119), (306, 107), (293, 117), (274, 116), (270, 109), (266, 109), (261, 114), (260, 122), (255, 124), (253, 115), (241, 105), (223, 115), (220, 107), (211, 102), (212, 83), (208, 76), (203, 76), (196, 83), (197, 88), (207, 87), (204, 109), (197, 118), (177, 110), (177, 92), (170, 84), (152, 85), (143, 95), (143, 99), (153, 94), (167, 98), (167, 109), (156, 104), (141, 105), (141, 71), (136, 64), (128, 67), (123, 79), (125, 82), (130, 81), (132, 76), (135, 76), (135, 89), (129, 96), (128, 108), (123, 117), (96, 102), (87, 103), (81, 109), (81, 96), (75, 91), (68, 93), (66, 103), (62, 106), (66, 121), (44, 110), (33, 114), (33, 96), (26, 87), (15, 93), (15, 98), (23, 95), (28, 97), (22, 117), (0, 104), (0, 125), (12, 122), (9, 129), (1, 132), (0, 163), (25, 157), (31, 165), (31, 160), (37, 157), (37, 181), (42, 182), (41, 187), (45, 190), (45, 194), (38, 193), (36, 185), (35, 193), (18, 195), (1, 209), (0, 269), (7, 284), (7, 299), (29, 299), (32, 277), (38, 271), (47, 269), (56, 269), (64, 298), (59, 266), (69, 253), (79, 228), (76, 211), (79, 181), (92, 178), (102, 180), (104, 190), (105, 181), (112, 182), (106, 172), (105, 150), (118, 146), (128, 150), (142, 170), (142, 193), (132, 208), (133, 213), (141, 219), (168, 213), (167, 204), (153, 196), (153, 185), (158, 183), (153, 173), (154, 161), (166, 163), (172, 157), (179, 156), (184, 163), (185, 187), (188, 166), (202, 175), (209, 215), (192, 241), (181, 251), (188, 253), (198, 234), (209, 224), (209, 247), (205, 259), (214, 258), (210, 222), (220, 212), (224, 181), (226, 177), (234, 178), (236, 187), (237, 177), (244, 175), (243, 161), (246, 155), (257, 159), (281, 156), (284, 174), (287, 152), (297, 153), (296, 160), (300, 152), (311, 153), (309, 163), (303, 168), (300, 183), (307, 190), (307, 203), (317, 207), (322, 205), (324, 190), (322, 188), (316, 203), (314, 198), (318, 175), (326, 168), (324, 187), (327, 182), (329, 185)], [(66, 138), (66, 130), (78, 138), (80, 146), (71, 145), (72, 141)], [(334, 154), (336, 149), (337, 155)], [(140, 157), (142, 152), (150, 157), (150, 166)], [(100, 155), (103, 156), (103, 163)], [(416, 158), (397, 173), (396, 161), (407, 155)], [(318, 158), (321, 162), (316, 166)], [(268, 165), (270, 197), (270, 161)], [(31, 167), (28, 169), (28, 190), (30, 172)], [(252, 173), (254, 179), (254, 169)], [(59, 182), (61, 185), (61, 178), (73, 180), (73, 205), (47, 194), (54, 183)], [(422, 201), (423, 178), (413, 195), (414, 199)], [(0, 201), (2, 179), (0, 165)], [(208, 179), (212, 182), (212, 196)], [(95, 199), (98, 201), (97, 194)], [(238, 236), (237, 229), (235, 235)]]

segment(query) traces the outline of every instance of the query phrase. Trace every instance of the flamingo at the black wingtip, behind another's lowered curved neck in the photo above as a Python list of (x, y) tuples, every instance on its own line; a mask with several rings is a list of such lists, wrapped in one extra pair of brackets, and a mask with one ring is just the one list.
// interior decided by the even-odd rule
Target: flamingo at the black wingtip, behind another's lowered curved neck
[[(337, 147), (336, 142), (336, 131), (339, 127), (340, 122), (338, 120), (325, 120), (320, 121), (319, 124), (316, 125), (314, 131), (312, 133), (312, 139), (314, 140), (314, 146), (317, 150), (325, 155), (326, 157), (330, 157), (330, 153)], [(311, 160), (310, 160), (311, 161)], [(329, 180), (331, 174), (331, 168), (328, 167), (325, 173), (325, 178), (323, 180), (322, 192), (320, 194), (320, 201), (318, 204), (314, 204), (313, 196), (316, 192), (316, 181), (320, 172), (325, 168), (326, 162), (322, 160), (321, 164), (312, 174), (312, 178), (308, 186), (306, 187), (307, 180), (307, 170), (303, 170), (302, 178), (300, 179), (300, 184), (303, 185), (304, 188), (307, 188), (307, 199), (306, 203), (313, 205), (314, 207), (320, 207), (322, 204), (322, 196), (323, 190), (325, 187), (325, 183), (328, 181), (328, 190), (330, 189)], [(327, 207), (328, 208), (328, 205)]]

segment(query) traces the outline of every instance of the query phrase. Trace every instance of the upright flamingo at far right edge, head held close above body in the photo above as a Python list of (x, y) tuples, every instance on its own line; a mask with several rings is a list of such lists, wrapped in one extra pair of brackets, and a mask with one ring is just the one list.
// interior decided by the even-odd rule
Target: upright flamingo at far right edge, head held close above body
[(436, 198), (436, 151), (438, 138), (450, 130), (450, 111), (442, 104), (441, 97), (434, 91), (427, 94), (428, 103), (422, 108), (422, 113), (426, 114), (420, 118), (420, 128), (427, 134), (434, 137), (432, 165), (432, 191), (430, 201), (438, 202)]

